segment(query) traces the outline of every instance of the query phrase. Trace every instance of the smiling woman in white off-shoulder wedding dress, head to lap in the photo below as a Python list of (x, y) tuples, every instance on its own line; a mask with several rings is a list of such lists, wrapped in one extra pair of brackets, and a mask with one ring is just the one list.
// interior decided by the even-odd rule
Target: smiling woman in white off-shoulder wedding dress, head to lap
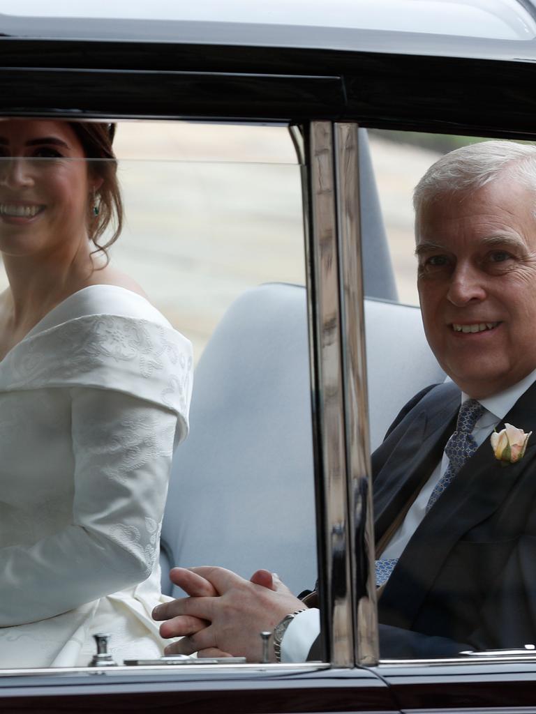
[[(159, 528), (189, 341), (99, 245), (121, 199), (107, 124), (0, 124), (0, 667), (158, 656)], [(99, 159), (99, 161), (97, 161)]]

